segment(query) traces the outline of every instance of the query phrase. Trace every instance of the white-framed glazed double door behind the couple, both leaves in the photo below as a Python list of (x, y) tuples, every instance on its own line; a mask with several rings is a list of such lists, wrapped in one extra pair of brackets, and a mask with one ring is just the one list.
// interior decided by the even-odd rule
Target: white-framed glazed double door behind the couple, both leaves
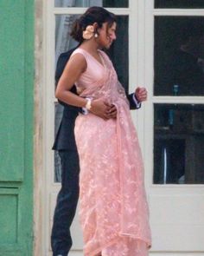
[[(132, 118), (145, 164), (153, 237), (150, 255), (204, 255), (204, 93), (201, 86), (188, 90), (183, 89), (179, 82), (172, 82), (172, 74), (178, 69), (178, 62), (173, 64), (172, 57), (177, 43), (182, 40), (182, 30), (187, 30), (188, 34), (188, 30), (192, 30), (191, 25), (197, 27), (199, 23), (201, 27), (204, 26), (204, 10), (201, 10), (204, 4), (199, 0), (191, 3), (192, 6), (190, 3), (185, 6), (182, 0), (155, 2), (47, 1), (46, 255), (51, 255), (50, 230), (55, 200), (61, 186), (59, 157), (51, 151), (54, 130), (59, 126), (62, 113), (62, 108), (54, 99), (55, 63), (61, 52), (75, 45), (67, 36), (74, 19), (92, 5), (104, 6), (118, 16), (118, 40), (111, 56), (124, 88), (131, 93), (137, 85), (145, 85), (149, 91), (148, 102), (137, 112), (132, 111)], [(201, 46), (199, 51), (198, 66), (203, 70), (204, 48)], [(72, 234), (73, 251), (70, 255), (82, 255), (77, 215)]]

